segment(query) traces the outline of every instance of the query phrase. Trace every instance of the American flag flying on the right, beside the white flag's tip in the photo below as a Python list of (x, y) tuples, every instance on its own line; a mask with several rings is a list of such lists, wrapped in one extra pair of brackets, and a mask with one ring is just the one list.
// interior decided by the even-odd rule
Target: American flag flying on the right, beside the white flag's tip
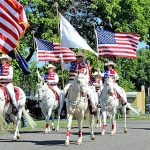
[(140, 36), (131, 32), (115, 33), (97, 29), (99, 56), (136, 58)]

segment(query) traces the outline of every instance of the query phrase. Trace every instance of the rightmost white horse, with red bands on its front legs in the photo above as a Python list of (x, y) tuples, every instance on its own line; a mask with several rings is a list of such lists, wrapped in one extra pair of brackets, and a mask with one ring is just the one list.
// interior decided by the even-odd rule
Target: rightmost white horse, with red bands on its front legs
[[(107, 112), (109, 112), (111, 116), (111, 123), (112, 123), (112, 131), (111, 135), (116, 133), (116, 113), (117, 109), (121, 108), (124, 118), (124, 132), (127, 133), (127, 125), (126, 125), (126, 107), (128, 105), (122, 106), (121, 100), (118, 99), (117, 93), (114, 89), (114, 79), (112, 77), (108, 77), (105, 80), (103, 91), (100, 97), (100, 104), (101, 104), (101, 111), (103, 116), (103, 126), (102, 126), (102, 135), (105, 134), (106, 130), (106, 119), (107, 119)], [(122, 92), (125, 94), (124, 89)]]

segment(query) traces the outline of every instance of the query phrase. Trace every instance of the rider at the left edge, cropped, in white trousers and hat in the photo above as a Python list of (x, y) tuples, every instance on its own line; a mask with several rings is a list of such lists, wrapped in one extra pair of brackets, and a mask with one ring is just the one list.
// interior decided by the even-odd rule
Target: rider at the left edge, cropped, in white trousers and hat
[(15, 92), (14, 92), (14, 86), (12, 83), (13, 79), (13, 67), (9, 64), (9, 62), (12, 60), (8, 55), (2, 54), (0, 57), (2, 66), (1, 66), (1, 71), (0, 71), (0, 83), (4, 85), (7, 89), (7, 92), (10, 95), (12, 104), (13, 104), (13, 112), (17, 113), (18, 112), (18, 104), (16, 101), (15, 97)]

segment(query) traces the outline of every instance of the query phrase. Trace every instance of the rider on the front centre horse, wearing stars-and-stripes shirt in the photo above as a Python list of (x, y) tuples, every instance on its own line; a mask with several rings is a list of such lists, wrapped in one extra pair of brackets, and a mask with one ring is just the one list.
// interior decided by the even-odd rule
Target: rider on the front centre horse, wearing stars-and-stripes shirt
[[(82, 52), (78, 52), (76, 54), (76, 61), (75, 62), (71, 62), (71, 63), (63, 63), (63, 67), (66, 70), (69, 70), (69, 83), (65, 86), (64, 88), (64, 92), (65, 95), (67, 95), (68, 89), (70, 87), (70, 85), (72, 84), (75, 76), (78, 74), (78, 72), (83, 72), (86, 75), (87, 81), (90, 81), (90, 76), (91, 76), (91, 69), (90, 69), (90, 65), (87, 63), (87, 60), (85, 59), (85, 56)], [(94, 100), (91, 98), (91, 89), (88, 86), (88, 96), (89, 96), (89, 100), (91, 103), (91, 113), (95, 113), (96, 111), (96, 106), (95, 106), (95, 102)]]

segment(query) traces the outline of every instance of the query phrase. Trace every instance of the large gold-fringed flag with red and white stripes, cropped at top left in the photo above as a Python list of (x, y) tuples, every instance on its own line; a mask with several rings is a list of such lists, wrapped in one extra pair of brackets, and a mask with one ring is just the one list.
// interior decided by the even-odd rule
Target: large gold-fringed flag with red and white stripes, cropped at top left
[(23, 6), (16, 0), (0, 0), (0, 51), (8, 54), (18, 45), (29, 24)]

